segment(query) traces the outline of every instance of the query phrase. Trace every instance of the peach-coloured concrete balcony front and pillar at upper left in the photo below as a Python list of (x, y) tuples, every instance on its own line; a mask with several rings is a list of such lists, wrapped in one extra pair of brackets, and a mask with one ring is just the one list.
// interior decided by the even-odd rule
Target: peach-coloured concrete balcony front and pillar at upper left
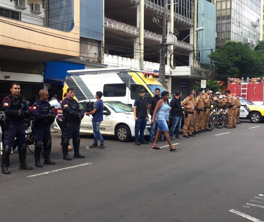
[(74, 27), (68, 32), (0, 17), (0, 58), (45, 62), (80, 56), (79, 7), (74, 0)]

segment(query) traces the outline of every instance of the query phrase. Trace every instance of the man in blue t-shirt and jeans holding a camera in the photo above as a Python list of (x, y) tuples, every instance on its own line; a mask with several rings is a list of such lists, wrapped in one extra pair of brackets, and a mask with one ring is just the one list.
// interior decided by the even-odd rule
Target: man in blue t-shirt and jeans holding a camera
[[(85, 115), (92, 115), (92, 124), (93, 124), (93, 135), (94, 135), (94, 141), (93, 145), (89, 146), (89, 148), (103, 148), (105, 147), (105, 140), (103, 139), (103, 136), (101, 132), (99, 131), (99, 127), (101, 122), (103, 121), (103, 109), (104, 109), (104, 103), (103, 100), (101, 100), (101, 97), (103, 96), (103, 93), (101, 91), (97, 91), (95, 94), (95, 98), (97, 101), (94, 103), (94, 109), (91, 112), (85, 112)], [(98, 146), (97, 141), (98, 139), (101, 141), (101, 145)]]

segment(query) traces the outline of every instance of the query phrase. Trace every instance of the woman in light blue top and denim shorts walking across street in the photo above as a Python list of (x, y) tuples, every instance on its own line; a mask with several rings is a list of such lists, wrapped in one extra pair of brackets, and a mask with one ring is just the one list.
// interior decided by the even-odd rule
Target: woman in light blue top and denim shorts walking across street
[(153, 113), (153, 118), (151, 119), (151, 123), (154, 123), (156, 120), (158, 124), (158, 130), (155, 136), (155, 141), (153, 145), (151, 146), (151, 149), (161, 149), (160, 147), (157, 146), (157, 142), (159, 140), (159, 137), (162, 132), (164, 132), (164, 136), (169, 144), (170, 151), (175, 151), (178, 149), (178, 147), (175, 147), (172, 145), (171, 140), (170, 140), (170, 135), (169, 135), (169, 115), (170, 115), (170, 110), (171, 107), (167, 104), (167, 100), (169, 98), (169, 93), (167, 91), (163, 91), (161, 93), (161, 99), (157, 102), (154, 113)]

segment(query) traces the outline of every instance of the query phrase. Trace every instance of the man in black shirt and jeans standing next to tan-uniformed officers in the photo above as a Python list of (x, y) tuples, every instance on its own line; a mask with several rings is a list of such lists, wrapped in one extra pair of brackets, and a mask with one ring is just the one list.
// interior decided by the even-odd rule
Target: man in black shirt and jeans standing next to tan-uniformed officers
[[(180, 127), (181, 127), (181, 120), (183, 116), (182, 106), (181, 106), (181, 92), (176, 91), (175, 98), (171, 100), (170, 107), (171, 107), (171, 131), (170, 131), (170, 140), (174, 140), (173, 134), (175, 131), (175, 139), (180, 138)], [(175, 130), (176, 128), (176, 130)]]

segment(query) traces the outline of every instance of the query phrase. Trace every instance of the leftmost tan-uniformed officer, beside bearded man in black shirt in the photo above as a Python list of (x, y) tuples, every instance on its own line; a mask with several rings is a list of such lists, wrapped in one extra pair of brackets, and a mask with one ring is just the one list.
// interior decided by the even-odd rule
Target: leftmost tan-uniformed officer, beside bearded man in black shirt
[(182, 107), (184, 107), (184, 126), (183, 137), (190, 138), (192, 135), (192, 117), (194, 113), (194, 106), (192, 104), (193, 94), (188, 93), (187, 98), (182, 101)]

